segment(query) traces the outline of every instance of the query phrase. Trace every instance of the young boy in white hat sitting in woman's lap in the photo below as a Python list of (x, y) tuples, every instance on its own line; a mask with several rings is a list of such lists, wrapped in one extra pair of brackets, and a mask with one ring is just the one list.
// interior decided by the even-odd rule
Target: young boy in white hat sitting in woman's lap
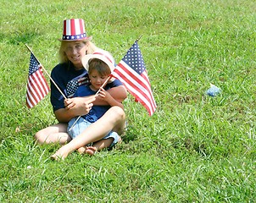
[[(92, 123), (96, 122), (98, 118), (101, 118), (110, 107), (119, 106), (124, 109), (122, 103), (114, 100), (109, 92), (107, 92), (107, 90), (113, 86), (122, 85), (119, 80), (109, 80), (109, 75), (112, 70), (114, 70), (114, 58), (111, 54), (103, 50), (98, 50), (93, 54), (86, 55), (82, 59), (82, 63), (88, 71), (91, 85), (81, 85), (75, 92), (74, 96), (100, 96), (100, 98), (107, 102), (108, 105), (93, 106), (88, 114), (81, 116), (81, 118), (72, 118), (68, 125), (68, 133), (72, 139), (75, 139), (77, 135), (81, 134), (81, 132)], [(111, 147), (119, 141), (119, 134), (114, 131), (110, 131), (103, 140), (98, 140), (93, 143), (92, 146), (81, 147), (78, 151), (79, 153), (94, 155), (96, 151), (100, 151), (106, 147)]]

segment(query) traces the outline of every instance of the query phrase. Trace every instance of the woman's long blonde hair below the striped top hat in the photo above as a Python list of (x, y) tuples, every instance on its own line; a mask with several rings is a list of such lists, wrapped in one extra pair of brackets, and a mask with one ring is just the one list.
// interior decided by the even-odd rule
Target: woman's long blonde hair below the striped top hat
[[(86, 54), (92, 54), (97, 49), (97, 47), (92, 43), (92, 41), (82, 41), (82, 42), (88, 46)], [(61, 41), (61, 44), (58, 50), (59, 63), (69, 62), (69, 59), (67, 58), (67, 55), (65, 53), (66, 46), (67, 46), (67, 41)]]

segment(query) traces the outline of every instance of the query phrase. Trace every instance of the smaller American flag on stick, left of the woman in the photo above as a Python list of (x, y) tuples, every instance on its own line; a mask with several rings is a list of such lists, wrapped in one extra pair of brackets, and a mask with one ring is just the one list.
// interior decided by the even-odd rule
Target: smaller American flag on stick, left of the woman
[(42, 100), (50, 91), (47, 81), (42, 73), (40, 64), (31, 52), (31, 62), (26, 90), (26, 105), (31, 108)]

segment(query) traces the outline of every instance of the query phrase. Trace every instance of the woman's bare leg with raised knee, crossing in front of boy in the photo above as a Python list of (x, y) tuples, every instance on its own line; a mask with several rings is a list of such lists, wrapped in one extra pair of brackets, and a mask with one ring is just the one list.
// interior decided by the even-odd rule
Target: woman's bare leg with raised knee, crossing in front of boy
[(92, 123), (85, 131), (79, 134), (70, 143), (62, 146), (52, 156), (53, 159), (64, 159), (71, 151), (75, 151), (81, 146), (96, 142), (103, 139), (111, 130), (116, 130), (118, 134), (122, 134), (125, 128), (125, 112), (120, 107), (111, 107), (108, 112), (105, 112), (102, 118), (97, 122)]

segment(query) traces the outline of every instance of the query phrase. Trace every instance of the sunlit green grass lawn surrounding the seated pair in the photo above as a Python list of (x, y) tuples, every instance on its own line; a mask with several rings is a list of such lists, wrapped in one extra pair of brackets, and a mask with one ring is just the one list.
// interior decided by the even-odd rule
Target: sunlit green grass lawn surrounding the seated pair
[[(255, 0), (3, 0), (1, 7), (1, 202), (256, 200)], [(67, 18), (85, 19), (87, 34), (117, 62), (142, 35), (158, 109), (149, 117), (129, 96), (122, 144), (52, 162), (58, 145), (33, 140), (56, 123), (49, 95), (25, 107), (25, 43), (50, 72)], [(219, 96), (205, 95), (210, 83)]]

